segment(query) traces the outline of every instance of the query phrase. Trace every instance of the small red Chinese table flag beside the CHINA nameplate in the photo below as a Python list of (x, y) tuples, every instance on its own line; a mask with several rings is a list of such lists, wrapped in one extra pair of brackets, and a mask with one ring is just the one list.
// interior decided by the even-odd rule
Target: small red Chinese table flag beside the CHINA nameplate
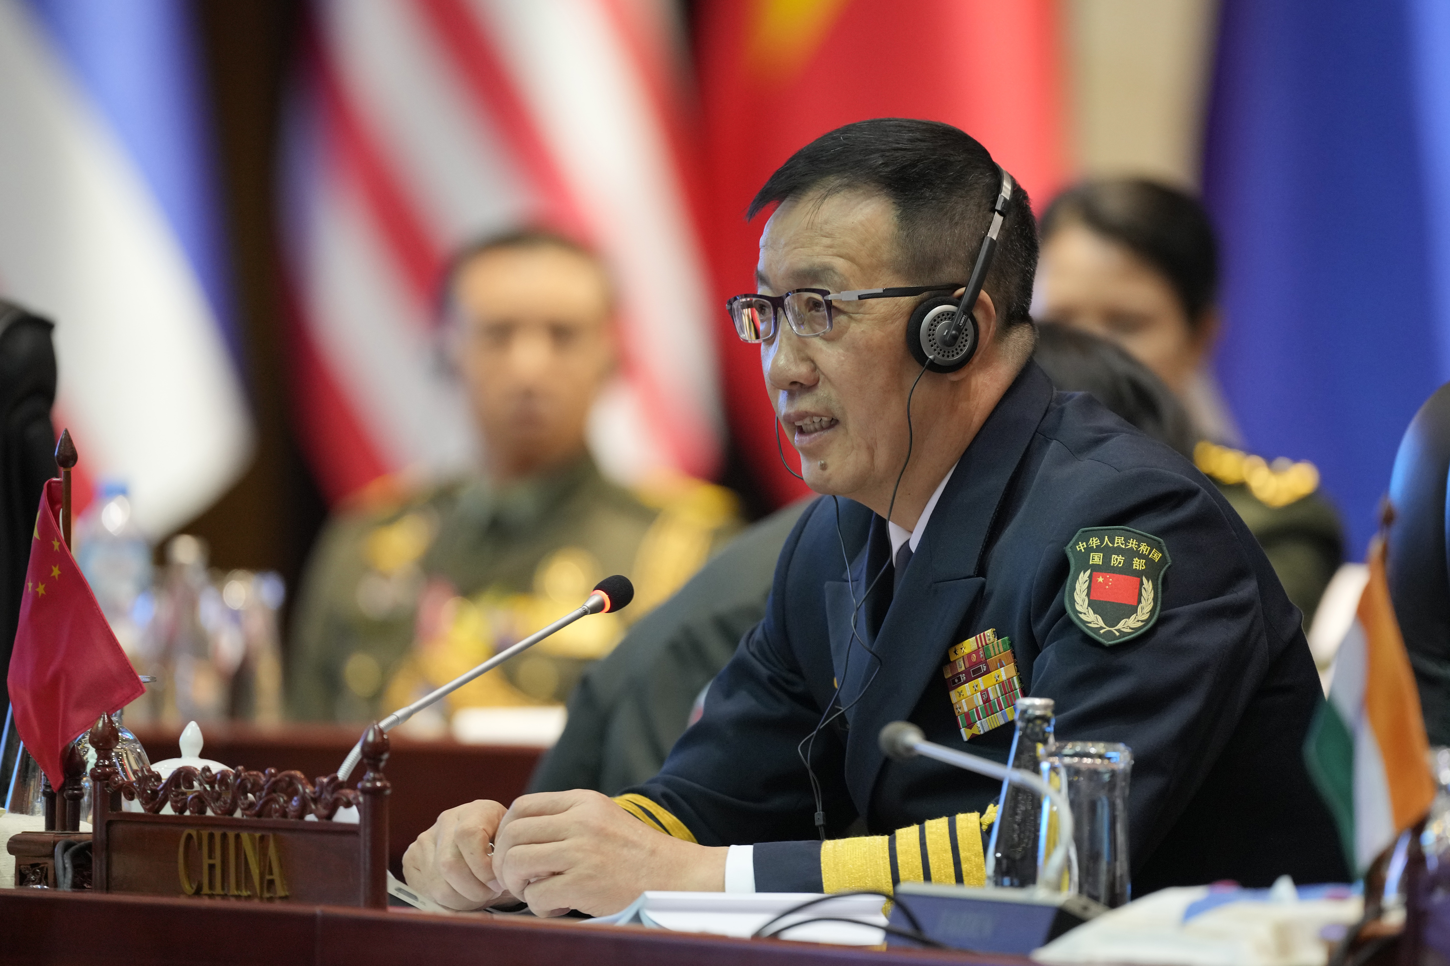
[(51, 479), (35, 517), (7, 678), (16, 731), (54, 788), (65, 779), (65, 746), (145, 692), (61, 539), (59, 508), (61, 481)]

